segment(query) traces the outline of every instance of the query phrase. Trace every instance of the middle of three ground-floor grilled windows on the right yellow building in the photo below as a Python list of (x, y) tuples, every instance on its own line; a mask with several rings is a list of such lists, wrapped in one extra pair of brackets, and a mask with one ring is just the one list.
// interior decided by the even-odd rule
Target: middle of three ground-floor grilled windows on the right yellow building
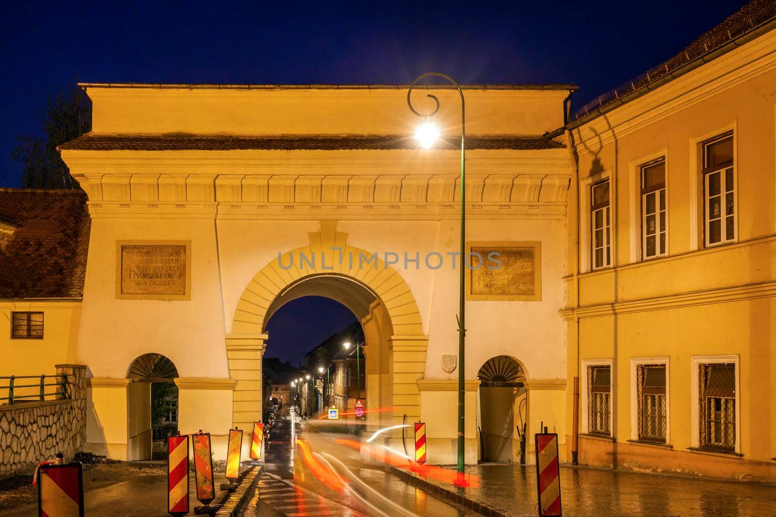
[(639, 439), (666, 442), (666, 365), (639, 364), (636, 368)]

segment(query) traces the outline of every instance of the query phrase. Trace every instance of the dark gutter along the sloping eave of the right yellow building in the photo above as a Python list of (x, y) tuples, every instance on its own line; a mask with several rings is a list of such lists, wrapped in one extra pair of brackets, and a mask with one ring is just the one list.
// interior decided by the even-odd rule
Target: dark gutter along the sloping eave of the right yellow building
[(660, 86), (663, 86), (663, 84), (673, 81), (675, 78), (678, 78), (681, 75), (687, 74), (688, 72), (695, 70), (695, 68), (698, 68), (703, 64), (708, 63), (709, 61), (715, 60), (717, 57), (721, 56), (722, 54), (727, 53), (736, 47), (740, 47), (744, 43), (749, 43), (751, 40), (754, 40), (755, 38), (757, 38), (757, 36), (760, 36), (764, 33), (768, 33), (774, 28), (776, 28), (776, 18), (770, 19), (769, 21), (763, 23), (762, 25), (757, 26), (754, 29), (750, 30), (748, 33), (742, 34), (741, 36), (738, 36), (736, 39), (728, 41), (727, 43), (722, 45), (722, 47), (717, 47), (714, 50), (710, 50), (709, 52), (696, 57), (694, 60), (688, 61), (688, 63), (683, 64), (681, 67), (678, 67), (674, 71), (671, 71), (669, 74), (664, 75), (662, 78), (657, 79), (656, 81), (647, 83), (641, 88), (639, 88), (638, 90), (632, 91), (627, 95), (623, 95), (621, 98), (616, 98), (615, 100), (609, 102), (608, 104), (603, 105), (600, 108), (594, 109), (594, 111), (581, 116), (579, 119), (576, 119), (573, 122), (570, 122), (569, 124), (566, 124), (566, 126), (559, 127), (554, 131), (545, 133), (543, 136), (545, 138), (552, 139), (555, 136), (559, 136), (563, 134), (563, 132), (566, 129), (574, 129), (579, 126), (582, 126), (585, 122), (589, 122), (593, 119), (596, 119), (600, 115), (604, 115), (605, 113), (611, 112), (612, 110), (619, 108), (621, 105), (625, 104), (626, 102), (631, 102), (632, 100), (639, 98), (642, 95), (649, 93), (650, 91), (660, 88)]

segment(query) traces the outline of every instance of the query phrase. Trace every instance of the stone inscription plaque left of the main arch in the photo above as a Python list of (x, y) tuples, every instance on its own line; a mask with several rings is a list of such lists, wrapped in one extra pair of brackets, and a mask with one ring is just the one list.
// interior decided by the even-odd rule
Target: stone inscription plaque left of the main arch
[(120, 243), (120, 298), (188, 299), (187, 243)]

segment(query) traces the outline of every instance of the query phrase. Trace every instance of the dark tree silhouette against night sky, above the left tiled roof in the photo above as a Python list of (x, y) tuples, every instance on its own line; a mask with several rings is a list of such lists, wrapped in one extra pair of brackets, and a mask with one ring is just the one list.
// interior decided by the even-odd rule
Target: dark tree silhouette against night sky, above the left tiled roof
[(17, 136), (12, 158), (24, 164), (23, 188), (79, 188), (57, 151), (92, 129), (92, 106), (81, 88), (73, 87), (49, 98), (40, 115), (43, 136)]

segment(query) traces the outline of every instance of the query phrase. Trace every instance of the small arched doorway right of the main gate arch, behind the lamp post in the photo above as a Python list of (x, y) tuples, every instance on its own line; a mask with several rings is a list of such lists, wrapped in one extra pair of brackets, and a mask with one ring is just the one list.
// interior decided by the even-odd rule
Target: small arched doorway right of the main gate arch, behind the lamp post
[(477, 374), (480, 379), (480, 462), (518, 463), (521, 437), (528, 428), (525, 370), (509, 356), (492, 357)]

